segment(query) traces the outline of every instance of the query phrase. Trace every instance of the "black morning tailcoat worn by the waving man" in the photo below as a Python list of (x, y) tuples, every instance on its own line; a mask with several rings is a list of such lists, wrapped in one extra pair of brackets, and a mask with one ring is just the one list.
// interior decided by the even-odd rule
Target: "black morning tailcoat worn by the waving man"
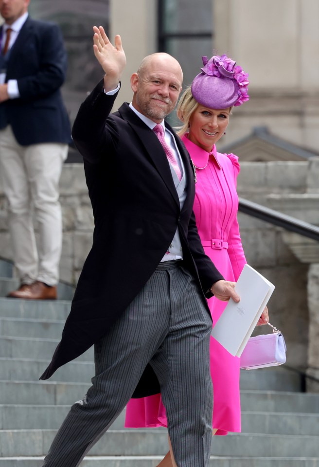
[[(169, 162), (156, 134), (126, 103), (109, 114), (116, 95), (105, 94), (102, 80), (81, 105), (73, 125), (93, 208), (93, 245), (62, 340), (40, 379), (51, 377), (105, 335), (150, 278), (177, 227), (183, 260), (203, 297), (211, 297), (209, 288), (223, 279), (205, 255), (197, 233), (194, 170), (185, 146), (165, 123), (175, 135), (187, 177), (187, 197), (180, 210)], [(159, 391), (147, 365), (133, 396)]]

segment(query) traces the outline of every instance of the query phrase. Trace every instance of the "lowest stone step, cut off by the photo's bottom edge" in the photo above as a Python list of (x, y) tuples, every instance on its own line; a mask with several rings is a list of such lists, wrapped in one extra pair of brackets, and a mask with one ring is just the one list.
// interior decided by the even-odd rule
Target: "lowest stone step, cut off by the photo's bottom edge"
[[(87, 456), (81, 467), (156, 467), (163, 456)], [(2, 457), (0, 467), (41, 467), (43, 457)], [(319, 467), (319, 458), (309, 457), (216, 457), (210, 467)]]

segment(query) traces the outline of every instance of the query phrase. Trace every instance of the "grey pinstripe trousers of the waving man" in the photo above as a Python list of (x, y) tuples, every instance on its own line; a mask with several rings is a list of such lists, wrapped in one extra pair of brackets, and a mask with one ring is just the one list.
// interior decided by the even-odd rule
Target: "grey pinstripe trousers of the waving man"
[[(179, 263), (181, 264), (181, 263)], [(94, 346), (96, 375), (72, 405), (42, 467), (77, 467), (130, 399), (148, 361), (159, 378), (178, 467), (209, 465), (212, 322), (191, 274), (160, 264)]]

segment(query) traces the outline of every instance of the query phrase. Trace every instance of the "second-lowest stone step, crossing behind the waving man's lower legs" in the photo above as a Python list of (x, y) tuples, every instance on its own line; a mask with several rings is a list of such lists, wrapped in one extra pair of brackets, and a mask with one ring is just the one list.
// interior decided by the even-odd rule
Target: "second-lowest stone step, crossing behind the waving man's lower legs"
[[(1, 430), (1, 456), (41, 456), (55, 436), (55, 430)], [(318, 457), (318, 436), (241, 433), (214, 436), (212, 454), (245, 457)], [(109, 430), (92, 447), (91, 455), (164, 455), (167, 452), (164, 430)]]

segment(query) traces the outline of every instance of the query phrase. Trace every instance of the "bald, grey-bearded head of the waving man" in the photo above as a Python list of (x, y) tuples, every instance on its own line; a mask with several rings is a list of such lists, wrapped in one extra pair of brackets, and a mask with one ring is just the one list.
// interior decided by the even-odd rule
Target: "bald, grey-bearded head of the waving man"
[(146, 117), (160, 123), (176, 106), (182, 73), (176, 60), (154, 57), (131, 81), (133, 106)]

